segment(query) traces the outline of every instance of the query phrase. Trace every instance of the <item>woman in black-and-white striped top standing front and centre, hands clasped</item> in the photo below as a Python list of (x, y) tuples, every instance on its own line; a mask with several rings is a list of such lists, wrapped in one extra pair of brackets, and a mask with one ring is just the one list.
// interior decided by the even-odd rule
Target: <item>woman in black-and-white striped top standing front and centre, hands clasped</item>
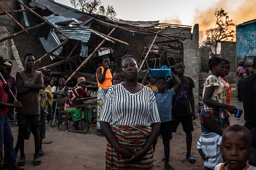
[(106, 169), (153, 169), (153, 148), (160, 129), (156, 98), (138, 83), (139, 64), (132, 55), (120, 61), (125, 82), (111, 86), (100, 117), (107, 139)]

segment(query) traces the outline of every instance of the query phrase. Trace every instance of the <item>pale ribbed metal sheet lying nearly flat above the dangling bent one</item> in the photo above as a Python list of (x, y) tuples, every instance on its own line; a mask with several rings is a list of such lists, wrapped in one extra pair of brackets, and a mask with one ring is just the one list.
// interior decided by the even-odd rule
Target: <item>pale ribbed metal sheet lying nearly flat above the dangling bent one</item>
[[(66, 27), (60, 26), (58, 29), (66, 34), (70, 39), (76, 39), (87, 43), (91, 36), (91, 31), (89, 27), (84, 26), (75, 26), (75, 27)], [(59, 39), (67, 39), (65, 36), (59, 32), (55, 32)]]

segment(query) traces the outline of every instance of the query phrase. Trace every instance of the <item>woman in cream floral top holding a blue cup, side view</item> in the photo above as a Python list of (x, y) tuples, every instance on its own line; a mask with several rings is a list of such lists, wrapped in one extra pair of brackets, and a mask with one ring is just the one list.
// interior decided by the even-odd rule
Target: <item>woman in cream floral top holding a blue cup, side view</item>
[[(224, 129), (229, 125), (229, 113), (235, 114), (236, 107), (226, 104), (226, 86), (218, 79), (225, 73), (225, 63), (222, 58), (213, 57), (208, 62), (209, 70), (212, 74), (206, 79), (203, 89), (203, 109), (200, 113), (200, 123), (202, 132), (208, 132), (203, 126), (205, 117), (212, 116), (219, 120), (221, 128)], [(220, 132), (221, 134), (221, 132)]]

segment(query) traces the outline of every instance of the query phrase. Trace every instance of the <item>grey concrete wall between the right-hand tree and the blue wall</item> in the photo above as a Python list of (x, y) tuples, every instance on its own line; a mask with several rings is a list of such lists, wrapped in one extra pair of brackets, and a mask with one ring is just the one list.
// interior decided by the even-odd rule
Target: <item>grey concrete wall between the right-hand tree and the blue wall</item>
[(236, 42), (221, 41), (221, 58), (224, 57), (230, 62), (230, 72), (226, 78), (229, 83), (235, 85), (237, 79)]

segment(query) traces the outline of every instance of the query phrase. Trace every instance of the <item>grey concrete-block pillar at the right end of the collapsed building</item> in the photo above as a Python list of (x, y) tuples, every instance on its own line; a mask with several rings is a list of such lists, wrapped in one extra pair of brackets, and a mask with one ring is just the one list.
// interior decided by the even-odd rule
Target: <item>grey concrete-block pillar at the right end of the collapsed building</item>
[(193, 29), (193, 39), (186, 39), (183, 43), (184, 45), (184, 65), (185, 75), (191, 77), (194, 81), (195, 88), (193, 89), (195, 97), (195, 113), (198, 111), (199, 102), (199, 82), (198, 74), (200, 72), (200, 57), (199, 57), (199, 26), (195, 24)]

